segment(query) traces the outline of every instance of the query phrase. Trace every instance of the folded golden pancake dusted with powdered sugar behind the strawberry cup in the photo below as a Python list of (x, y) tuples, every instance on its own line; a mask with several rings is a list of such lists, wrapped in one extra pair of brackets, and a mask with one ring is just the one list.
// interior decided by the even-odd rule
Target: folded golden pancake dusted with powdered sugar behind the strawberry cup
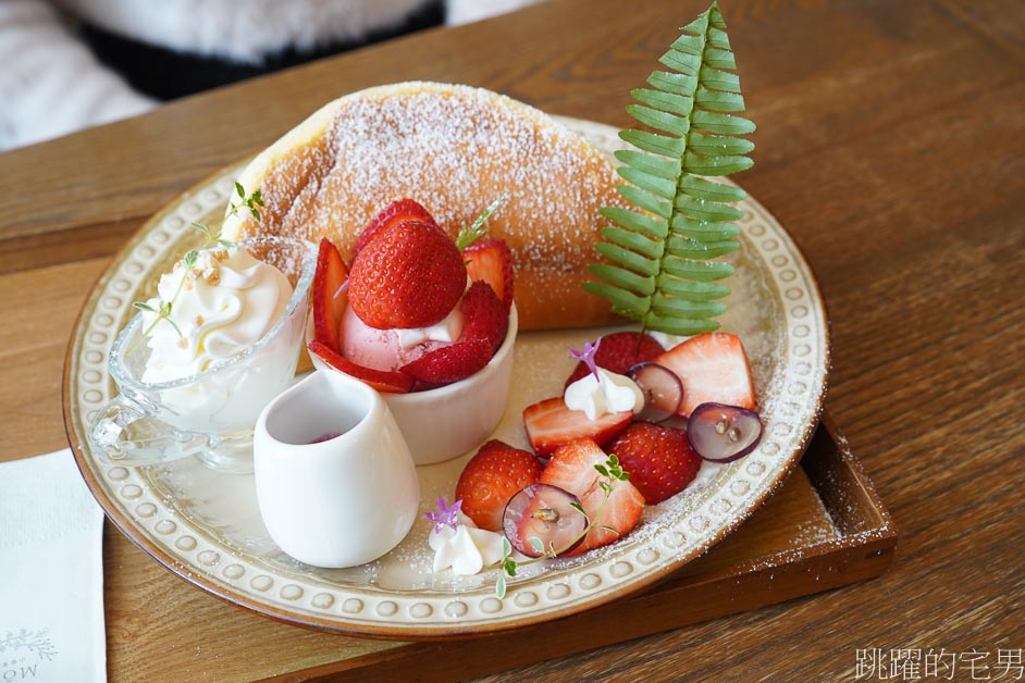
[[(330, 120), (324, 110), (311, 117), (320, 133), (279, 144), (287, 150), (255, 162), (264, 172), (244, 173), (259, 177), (263, 225), (244, 219), (226, 225), (230, 237), (328, 236), (347, 257), (363, 226), (394, 199), (416, 199), (455, 234), (505, 194), (490, 223), (510, 246), (517, 284), (531, 291), (521, 315), (530, 319), (531, 303), (561, 309), (566, 324), (593, 313), (573, 309), (590, 296), (580, 284), (607, 225), (598, 209), (622, 204), (618, 176), (600, 152), (543, 112), (468, 86), (402, 84), (332, 104)], [(600, 299), (594, 307), (607, 310)]]

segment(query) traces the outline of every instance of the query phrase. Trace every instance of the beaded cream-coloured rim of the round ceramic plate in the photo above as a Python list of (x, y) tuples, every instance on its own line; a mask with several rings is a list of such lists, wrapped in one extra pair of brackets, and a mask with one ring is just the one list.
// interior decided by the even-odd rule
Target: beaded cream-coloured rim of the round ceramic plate
[[(564, 119), (595, 147), (622, 146), (605, 124)], [(591, 609), (664, 578), (739, 526), (786, 480), (818, 423), (829, 369), (828, 318), (806, 260), (754, 198), (739, 203), (742, 241), (765, 269), (785, 320), (785, 419), (767, 421), (763, 443), (729, 465), (672, 519), (642, 539), (630, 536), (583, 561), (510, 583), (498, 600), (486, 589), (439, 593), (338, 588), (268, 571), (177, 519), (144, 476), (146, 468), (107, 465), (85, 437), (89, 417), (113, 395), (107, 351), (131, 316), (131, 301), (192, 221), (222, 210), (243, 163), (200, 182), (152, 216), (113, 259), (86, 300), (64, 367), (65, 427), (83, 476), (109, 519), (133, 543), (189, 583), (265, 617), (321, 631), (396, 639), (439, 639), (522, 628)], [(104, 350), (106, 349), (106, 350)], [(783, 402), (786, 401), (786, 402)], [(766, 408), (763, 407), (763, 411)], [(592, 557), (593, 556), (593, 557)]]

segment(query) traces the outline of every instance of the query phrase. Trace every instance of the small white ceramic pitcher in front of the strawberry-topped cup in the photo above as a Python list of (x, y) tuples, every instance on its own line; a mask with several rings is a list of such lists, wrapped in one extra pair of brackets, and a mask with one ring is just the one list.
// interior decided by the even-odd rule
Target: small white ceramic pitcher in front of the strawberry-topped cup
[(406, 536), (420, 484), (381, 396), (316, 371), (267, 406), (254, 433), (260, 516), (295, 559), (325, 568), (378, 559)]

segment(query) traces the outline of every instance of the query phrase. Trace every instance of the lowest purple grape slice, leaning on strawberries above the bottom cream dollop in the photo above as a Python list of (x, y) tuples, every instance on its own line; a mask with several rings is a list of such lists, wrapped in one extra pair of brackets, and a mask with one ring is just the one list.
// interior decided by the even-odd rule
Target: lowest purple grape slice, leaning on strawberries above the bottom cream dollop
[[(551, 484), (521, 488), (505, 506), (505, 536), (528, 557), (541, 557), (549, 548), (555, 548), (557, 555), (569, 552), (583, 541), (588, 527), (588, 517), (575, 504), (580, 505), (577, 496)], [(538, 542), (540, 547), (535, 546)]]

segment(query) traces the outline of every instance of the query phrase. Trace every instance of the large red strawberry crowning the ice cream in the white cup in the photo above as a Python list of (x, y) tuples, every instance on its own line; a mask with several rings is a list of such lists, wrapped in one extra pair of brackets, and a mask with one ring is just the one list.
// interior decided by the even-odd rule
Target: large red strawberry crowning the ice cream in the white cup
[(349, 306), (379, 330), (433, 325), (452, 312), (465, 289), (462, 254), (422, 221), (382, 228), (353, 259), (349, 273)]

